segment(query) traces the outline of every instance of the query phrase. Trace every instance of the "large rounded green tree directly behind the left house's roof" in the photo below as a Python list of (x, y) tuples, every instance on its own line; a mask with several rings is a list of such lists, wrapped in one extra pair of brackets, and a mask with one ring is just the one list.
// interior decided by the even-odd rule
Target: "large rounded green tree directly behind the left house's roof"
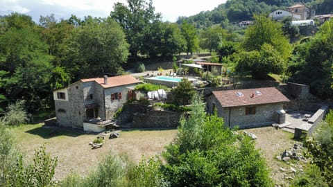
[(74, 66), (76, 78), (87, 78), (105, 73), (117, 75), (129, 53), (125, 35), (116, 21), (110, 17), (86, 17), (85, 24), (77, 28), (67, 54), (67, 60), (73, 60), (64, 64), (66, 69)]

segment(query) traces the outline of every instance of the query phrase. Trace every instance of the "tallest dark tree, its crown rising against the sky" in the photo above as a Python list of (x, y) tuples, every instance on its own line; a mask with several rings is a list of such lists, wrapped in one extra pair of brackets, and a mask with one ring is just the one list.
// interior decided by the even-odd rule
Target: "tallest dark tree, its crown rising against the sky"
[(142, 47), (148, 40), (144, 39), (149, 25), (159, 21), (160, 14), (155, 13), (153, 1), (127, 0), (128, 6), (123, 3), (115, 3), (110, 16), (116, 20), (126, 33), (126, 39), (130, 44), (130, 55), (136, 58), (142, 51)]

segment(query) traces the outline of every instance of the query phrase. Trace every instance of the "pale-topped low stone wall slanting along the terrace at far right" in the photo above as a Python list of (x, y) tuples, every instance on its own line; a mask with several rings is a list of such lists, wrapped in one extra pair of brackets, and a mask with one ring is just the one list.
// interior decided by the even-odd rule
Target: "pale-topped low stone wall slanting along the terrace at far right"
[(317, 112), (309, 118), (307, 123), (303, 123), (299, 127), (295, 128), (295, 133), (293, 134), (295, 139), (300, 139), (303, 133), (307, 133), (311, 135), (318, 125), (323, 121), (324, 116), (327, 114), (329, 110), (328, 105), (321, 106), (320, 109), (317, 110)]

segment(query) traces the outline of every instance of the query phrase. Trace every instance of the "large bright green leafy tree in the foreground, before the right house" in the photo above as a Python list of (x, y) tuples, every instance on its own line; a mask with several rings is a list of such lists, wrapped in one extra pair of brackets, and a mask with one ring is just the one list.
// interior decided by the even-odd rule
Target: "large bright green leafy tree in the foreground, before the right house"
[(273, 186), (253, 141), (225, 127), (216, 114), (207, 116), (200, 96), (194, 95), (191, 109), (163, 153), (171, 186)]

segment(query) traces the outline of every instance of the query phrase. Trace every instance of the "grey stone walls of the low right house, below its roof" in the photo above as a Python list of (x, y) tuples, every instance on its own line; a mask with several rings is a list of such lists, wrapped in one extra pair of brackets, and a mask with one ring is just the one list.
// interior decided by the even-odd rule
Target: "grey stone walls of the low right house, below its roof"
[(255, 114), (246, 115), (246, 107), (222, 107), (214, 95), (207, 98), (207, 112), (212, 114), (215, 105), (217, 115), (224, 119), (228, 127), (239, 125), (239, 128), (259, 127), (278, 123), (277, 111), (283, 109), (283, 103), (272, 103), (255, 106)]

